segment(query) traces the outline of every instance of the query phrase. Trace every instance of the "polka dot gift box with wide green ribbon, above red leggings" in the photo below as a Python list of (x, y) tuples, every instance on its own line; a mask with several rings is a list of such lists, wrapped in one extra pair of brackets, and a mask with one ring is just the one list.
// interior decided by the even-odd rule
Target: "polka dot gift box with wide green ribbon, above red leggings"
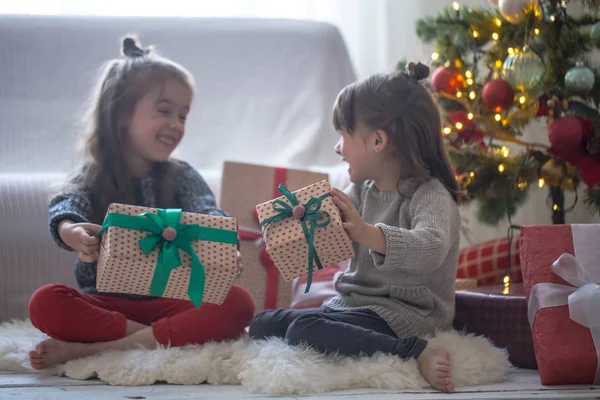
[(97, 290), (221, 304), (237, 274), (235, 218), (111, 204)]

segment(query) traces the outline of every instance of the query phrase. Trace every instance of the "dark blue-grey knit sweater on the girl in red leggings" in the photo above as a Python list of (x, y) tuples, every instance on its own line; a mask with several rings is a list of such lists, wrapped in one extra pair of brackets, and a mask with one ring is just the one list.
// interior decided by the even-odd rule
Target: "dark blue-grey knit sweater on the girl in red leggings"
[[(186, 212), (227, 216), (223, 210), (217, 207), (215, 197), (200, 174), (183, 161), (174, 160), (174, 162), (178, 165), (177, 172), (173, 176), (176, 207)], [(78, 177), (75, 177), (74, 181), (77, 180)], [(138, 179), (136, 181), (136, 193), (135, 205), (156, 207), (156, 190), (154, 181), (151, 178)], [(102, 224), (102, 221), (92, 221), (92, 196), (93, 194), (90, 191), (68, 189), (57, 193), (50, 200), (50, 233), (60, 247), (73, 251), (58, 234), (58, 225), (61, 221), (71, 220), (75, 223), (92, 222)], [(96, 264), (96, 262), (85, 263), (79, 259), (77, 260), (75, 277), (80, 290), (84, 293), (97, 293)], [(147, 296), (125, 294), (119, 294), (118, 296), (135, 299), (148, 298)]]

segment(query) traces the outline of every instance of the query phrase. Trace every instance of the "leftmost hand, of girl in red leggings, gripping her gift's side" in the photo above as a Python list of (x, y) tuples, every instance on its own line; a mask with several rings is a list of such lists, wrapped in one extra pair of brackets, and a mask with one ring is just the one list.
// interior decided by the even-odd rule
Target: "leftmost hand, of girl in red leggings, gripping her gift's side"
[(83, 262), (94, 262), (100, 256), (100, 239), (94, 237), (102, 227), (96, 224), (63, 221), (58, 227), (58, 232), (63, 242), (79, 253)]

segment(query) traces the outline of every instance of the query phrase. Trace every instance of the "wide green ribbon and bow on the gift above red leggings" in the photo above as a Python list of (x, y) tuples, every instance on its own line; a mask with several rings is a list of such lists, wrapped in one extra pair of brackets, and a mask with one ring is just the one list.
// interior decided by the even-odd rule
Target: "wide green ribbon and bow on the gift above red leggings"
[[(162, 296), (169, 282), (171, 271), (181, 266), (179, 249), (185, 251), (192, 258), (188, 297), (194, 305), (200, 308), (204, 295), (206, 273), (202, 262), (196, 255), (191, 242), (194, 240), (209, 240), (226, 244), (237, 244), (237, 232), (217, 228), (207, 228), (198, 224), (182, 224), (181, 209), (157, 209), (158, 214), (143, 213), (137, 216), (109, 213), (104, 220), (102, 229), (96, 234), (100, 237), (111, 226), (150, 232), (151, 234), (140, 239), (144, 254), (159, 248), (156, 269), (150, 284), (150, 296)], [(163, 238), (166, 228), (173, 228), (177, 232), (174, 240)]]

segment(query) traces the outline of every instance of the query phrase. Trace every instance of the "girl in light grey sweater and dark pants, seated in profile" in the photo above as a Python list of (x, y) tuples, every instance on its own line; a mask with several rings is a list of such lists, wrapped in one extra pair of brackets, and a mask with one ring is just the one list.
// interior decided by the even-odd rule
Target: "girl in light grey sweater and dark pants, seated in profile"
[(452, 392), (448, 352), (422, 339), (452, 326), (460, 229), (440, 113), (419, 83), (428, 75), (427, 66), (411, 63), (405, 73), (371, 76), (339, 94), (335, 151), (352, 185), (331, 194), (356, 256), (323, 307), (265, 311), (250, 336), (327, 354), (414, 358), (434, 388)]

